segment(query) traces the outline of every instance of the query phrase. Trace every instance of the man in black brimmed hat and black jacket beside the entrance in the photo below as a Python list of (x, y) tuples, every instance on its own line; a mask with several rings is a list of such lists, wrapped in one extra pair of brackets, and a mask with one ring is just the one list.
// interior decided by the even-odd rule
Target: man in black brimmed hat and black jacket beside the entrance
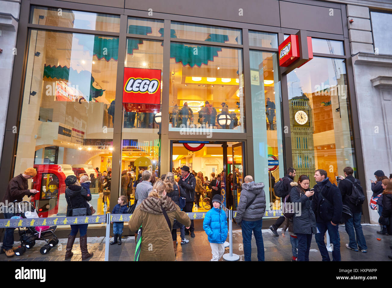
[[(196, 178), (189, 170), (189, 167), (186, 165), (181, 167), (180, 173), (181, 173), (181, 177), (180, 180), (178, 181), (178, 185), (180, 186), (180, 189), (183, 192), (185, 192), (185, 195), (187, 196), (185, 198), (185, 207), (183, 208), (183, 211), (192, 212), (193, 203), (195, 201)], [(193, 220), (191, 220), (191, 226), (189, 227), (189, 230), (185, 229), (185, 235), (188, 235), (190, 233), (192, 238), (195, 237), (194, 230), (195, 228), (194, 228)]]

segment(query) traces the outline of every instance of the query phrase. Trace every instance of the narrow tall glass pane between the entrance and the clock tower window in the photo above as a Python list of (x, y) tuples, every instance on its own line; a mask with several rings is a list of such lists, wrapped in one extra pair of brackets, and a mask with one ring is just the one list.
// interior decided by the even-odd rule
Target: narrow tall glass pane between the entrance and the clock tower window
[[(250, 51), (254, 180), (263, 182), (266, 217), (277, 216), (274, 184), (284, 176), (281, 91), (276, 53)], [(270, 204), (269, 204), (270, 203)]]

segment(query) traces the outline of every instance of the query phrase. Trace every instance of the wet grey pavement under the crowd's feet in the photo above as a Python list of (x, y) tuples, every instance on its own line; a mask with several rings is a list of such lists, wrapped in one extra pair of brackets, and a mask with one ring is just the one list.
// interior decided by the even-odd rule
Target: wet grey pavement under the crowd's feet
[[(364, 224), (362, 229), (368, 246), (367, 253), (347, 249), (345, 245), (348, 243), (348, 235), (344, 225), (339, 225), (342, 261), (391, 261), (388, 255), (392, 255), (389, 248), (389, 245), (392, 245), (392, 236), (377, 234), (376, 231), (379, 230), (379, 225)], [(269, 229), (263, 229), (265, 261), (291, 261), (292, 250), (289, 234), (286, 233), (286, 237), (283, 238), (280, 231), (281, 229), (278, 229), (279, 237), (276, 237)], [(180, 245), (181, 239), (180, 234), (178, 234), (176, 261), (209, 261), (211, 259), (211, 247), (207, 235), (205, 232), (196, 232), (195, 235), (195, 238), (186, 235), (189, 243)], [(380, 240), (377, 240), (377, 238)], [(229, 237), (227, 238), (228, 240)], [(14, 246), (18, 244), (20, 245), (20, 243), (15, 242)], [(36, 241), (36, 245), (31, 249), (27, 249), (23, 255), (7, 258), (5, 254), (2, 254), (0, 255), (0, 261), (64, 261), (67, 239), (59, 239), (59, 244), (46, 255), (40, 254), (40, 248), (43, 245), (44, 241)], [(85, 261), (105, 261), (105, 237), (88, 237), (87, 245), (89, 252), (93, 252), (94, 256)], [(135, 246), (134, 236), (123, 237), (122, 245), (111, 245), (109, 247), (109, 261), (133, 261)], [(241, 230), (233, 230), (232, 246), (233, 253), (239, 255), (240, 261), (243, 261)], [(74, 255), (71, 260), (67, 261), (82, 261), (79, 238), (75, 239), (72, 251)], [(225, 249), (226, 253), (229, 253), (229, 248)], [(332, 253), (330, 253), (330, 257), (332, 259)], [(314, 237), (310, 245), (309, 260), (321, 261), (321, 255)], [(220, 261), (225, 260), (220, 259)], [(252, 261), (257, 261), (257, 248), (254, 237), (252, 237)]]

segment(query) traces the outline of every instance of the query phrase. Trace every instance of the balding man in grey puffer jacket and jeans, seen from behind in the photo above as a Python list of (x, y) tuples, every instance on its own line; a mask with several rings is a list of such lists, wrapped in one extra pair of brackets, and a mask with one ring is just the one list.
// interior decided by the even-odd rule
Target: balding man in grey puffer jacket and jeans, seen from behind
[(242, 228), (245, 261), (251, 261), (252, 232), (256, 239), (257, 259), (264, 261), (264, 243), (261, 235), (263, 215), (265, 211), (264, 184), (255, 183), (252, 176), (246, 176), (242, 184), (240, 203), (238, 203), (236, 222)]

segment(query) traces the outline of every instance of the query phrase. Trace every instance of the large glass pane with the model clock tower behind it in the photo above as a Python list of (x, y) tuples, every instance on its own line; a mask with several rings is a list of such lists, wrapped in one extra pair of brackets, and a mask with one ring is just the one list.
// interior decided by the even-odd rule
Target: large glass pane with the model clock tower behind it
[(296, 179), (305, 174), (313, 186), (323, 169), (337, 184), (343, 168), (356, 171), (345, 60), (314, 57), (287, 75), (287, 86)]

